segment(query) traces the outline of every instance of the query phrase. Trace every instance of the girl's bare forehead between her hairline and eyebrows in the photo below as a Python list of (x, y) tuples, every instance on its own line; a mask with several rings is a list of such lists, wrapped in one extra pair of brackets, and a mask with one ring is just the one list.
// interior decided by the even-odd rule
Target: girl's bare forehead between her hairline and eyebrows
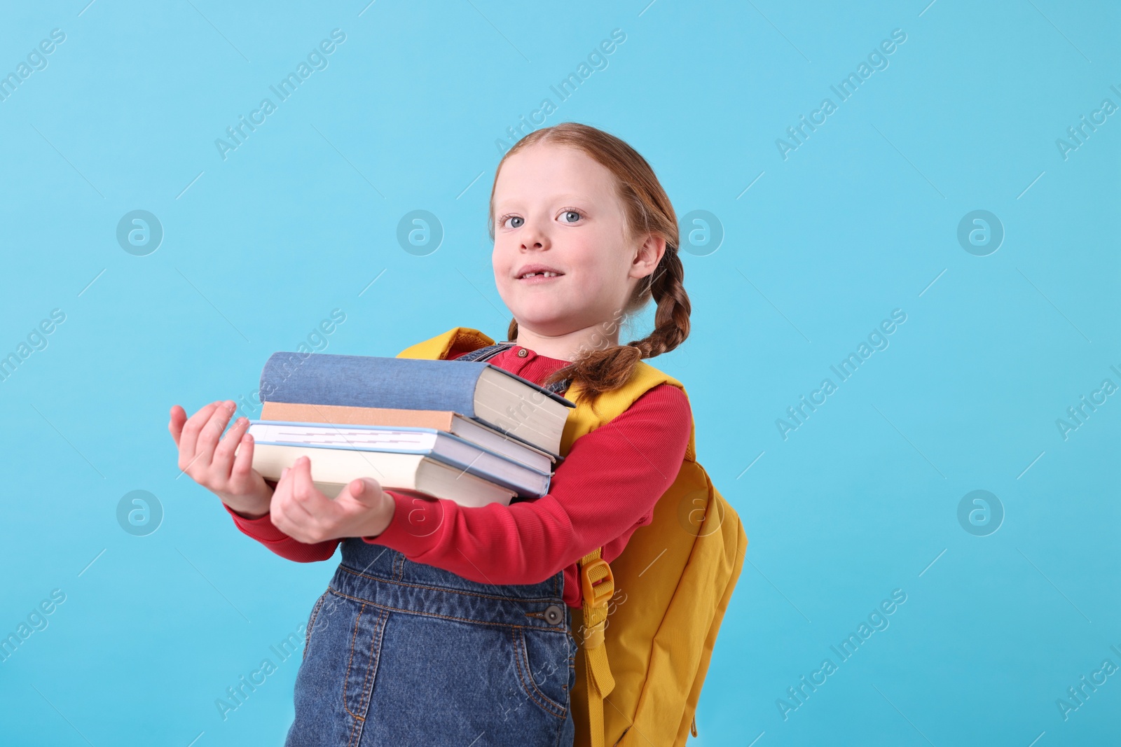
[(536, 143), (502, 164), (494, 183), (494, 204), (602, 200), (613, 192), (614, 176), (587, 153), (567, 146)]

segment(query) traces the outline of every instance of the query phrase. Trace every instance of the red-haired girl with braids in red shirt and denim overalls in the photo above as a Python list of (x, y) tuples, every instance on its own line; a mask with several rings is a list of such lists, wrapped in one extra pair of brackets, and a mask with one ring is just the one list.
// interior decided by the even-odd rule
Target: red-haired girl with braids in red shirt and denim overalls
[[(688, 335), (674, 208), (622, 140), (573, 122), (526, 136), (499, 162), (488, 224), (509, 342), (447, 358), (488, 360), (560, 394), (578, 380), (594, 403)], [(651, 297), (654, 332), (619, 345), (620, 318)], [(372, 478), (331, 499), (306, 458), (271, 485), (251, 469), (245, 418), (220, 440), (232, 412), (231, 401), (189, 420), (172, 408), (179, 467), (284, 558), (326, 560), (342, 544), (308, 619), (286, 745), (573, 744), (577, 561), (602, 547), (610, 562), (650, 523), (689, 438), (680, 389), (648, 390), (576, 439), (547, 495), (509, 506)]]

